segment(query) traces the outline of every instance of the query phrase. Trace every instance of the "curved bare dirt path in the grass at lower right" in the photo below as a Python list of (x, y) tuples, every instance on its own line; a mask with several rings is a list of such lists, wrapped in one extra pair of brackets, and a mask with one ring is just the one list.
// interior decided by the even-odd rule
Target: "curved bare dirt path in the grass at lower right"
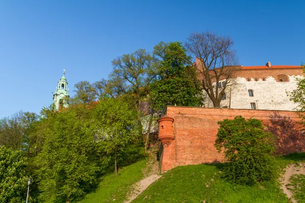
[(288, 189), (289, 186), (286, 186), (286, 185), (290, 183), (289, 179), (291, 178), (291, 176), (293, 176), (295, 174), (303, 174), (303, 175), (305, 175), (305, 163), (299, 163), (298, 166), (296, 166), (296, 164), (288, 165), (286, 167), (285, 174), (282, 176), (281, 189), (283, 190), (283, 192), (285, 194), (287, 194), (288, 198), (292, 202), (297, 202), (297, 201), (292, 198), (292, 193)]

